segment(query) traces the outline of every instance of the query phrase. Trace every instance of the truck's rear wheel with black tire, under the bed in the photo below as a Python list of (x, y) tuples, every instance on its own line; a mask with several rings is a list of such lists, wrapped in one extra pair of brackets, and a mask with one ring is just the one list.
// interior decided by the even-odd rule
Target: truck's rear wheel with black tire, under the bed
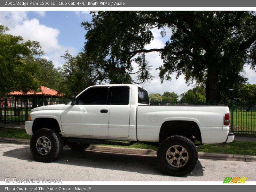
[(198, 161), (195, 144), (187, 137), (174, 135), (166, 138), (158, 147), (157, 159), (164, 172), (183, 176), (194, 170)]

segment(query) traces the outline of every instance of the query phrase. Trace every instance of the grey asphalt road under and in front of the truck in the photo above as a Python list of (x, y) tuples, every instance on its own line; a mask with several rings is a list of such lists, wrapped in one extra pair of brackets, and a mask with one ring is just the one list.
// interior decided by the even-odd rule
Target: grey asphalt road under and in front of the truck
[(29, 146), (0, 143), (0, 181), (62, 179), (62, 181), (223, 181), (225, 177), (248, 177), (256, 181), (256, 163), (199, 159), (195, 170), (184, 177), (162, 172), (154, 156), (95, 151), (74, 152), (64, 148), (52, 163), (34, 161)]

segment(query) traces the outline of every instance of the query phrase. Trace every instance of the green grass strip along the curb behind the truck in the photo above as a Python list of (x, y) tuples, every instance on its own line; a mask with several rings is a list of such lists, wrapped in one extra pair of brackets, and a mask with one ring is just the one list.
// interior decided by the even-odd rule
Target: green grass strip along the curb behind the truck
[[(24, 129), (0, 128), (0, 137), (30, 139), (31, 135), (28, 135)], [(115, 147), (157, 150), (157, 147), (139, 142), (136, 142), (131, 146)], [(204, 144), (198, 146), (198, 152), (256, 156), (256, 142), (234, 141), (227, 144)]]

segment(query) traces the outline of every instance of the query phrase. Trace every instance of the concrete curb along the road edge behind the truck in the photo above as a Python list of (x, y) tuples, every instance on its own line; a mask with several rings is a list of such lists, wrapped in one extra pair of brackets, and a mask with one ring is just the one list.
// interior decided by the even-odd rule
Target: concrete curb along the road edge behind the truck
[[(15, 143), (15, 144), (29, 144), (30, 140), (0, 137), (0, 142)], [(105, 152), (105, 153), (118, 153), (118, 154), (155, 156), (156, 157), (156, 151), (149, 150), (149, 149), (136, 149), (136, 148), (122, 148), (122, 147), (91, 145), (89, 148), (86, 149), (86, 151), (97, 151), (97, 152)], [(225, 161), (256, 162), (256, 156), (231, 155), (231, 154), (221, 154), (221, 153), (198, 152), (198, 158), (199, 159), (225, 160)]]

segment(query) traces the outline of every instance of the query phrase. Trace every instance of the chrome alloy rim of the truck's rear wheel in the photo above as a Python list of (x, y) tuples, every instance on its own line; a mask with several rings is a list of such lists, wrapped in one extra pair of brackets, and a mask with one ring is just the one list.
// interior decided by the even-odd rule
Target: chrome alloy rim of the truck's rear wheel
[(166, 151), (166, 161), (172, 167), (183, 167), (188, 163), (188, 151), (180, 145), (173, 145)]

